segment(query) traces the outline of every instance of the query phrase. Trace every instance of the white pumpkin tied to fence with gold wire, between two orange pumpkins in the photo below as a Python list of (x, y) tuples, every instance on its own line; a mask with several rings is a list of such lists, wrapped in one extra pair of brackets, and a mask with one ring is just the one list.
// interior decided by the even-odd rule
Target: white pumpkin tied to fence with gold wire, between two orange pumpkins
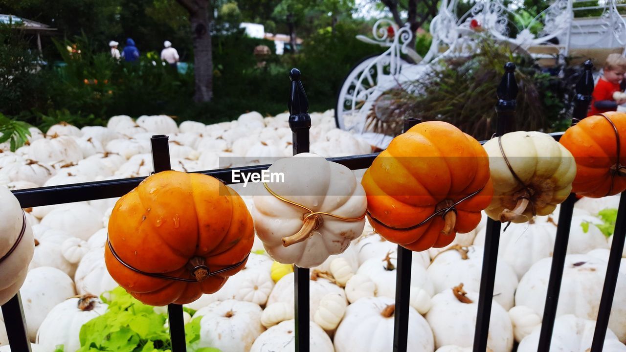
[[(267, 183), (273, 192), (315, 212), (357, 219), (366, 211), (365, 191), (354, 173), (319, 155), (300, 153), (282, 158), (269, 167), (269, 172), (280, 172), (285, 177), (284, 182)], [(305, 210), (269, 194), (262, 183), (254, 185), (258, 187), (252, 208), (255, 230), (265, 251), (278, 262), (317, 266), (331, 254), (345, 251), (350, 241), (362, 233), (364, 219), (344, 221), (313, 215), (303, 224)], [(302, 190), (307, 195), (301, 195)]]

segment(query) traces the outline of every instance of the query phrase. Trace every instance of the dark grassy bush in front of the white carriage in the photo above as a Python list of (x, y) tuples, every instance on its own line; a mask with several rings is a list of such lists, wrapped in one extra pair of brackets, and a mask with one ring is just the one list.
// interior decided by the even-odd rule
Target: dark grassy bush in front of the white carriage
[(403, 89), (384, 93), (374, 103), (368, 123), (379, 132), (399, 133), (402, 118), (416, 116), (443, 120), (479, 140), (488, 139), (495, 131), (496, 90), (508, 61), (517, 66), (519, 87), (513, 130), (548, 132), (567, 113), (563, 83), (538, 70), (530, 56), (487, 37), (478, 39), (468, 56), (443, 60)]

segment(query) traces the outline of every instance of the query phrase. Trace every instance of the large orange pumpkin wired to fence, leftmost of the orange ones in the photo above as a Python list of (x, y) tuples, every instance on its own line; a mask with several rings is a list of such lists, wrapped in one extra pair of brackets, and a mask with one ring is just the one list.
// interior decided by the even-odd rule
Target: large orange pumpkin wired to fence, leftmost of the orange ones
[(216, 292), (244, 267), (254, 225), (244, 200), (220, 180), (165, 171), (118, 200), (108, 241), (106, 267), (133, 297), (185, 304)]

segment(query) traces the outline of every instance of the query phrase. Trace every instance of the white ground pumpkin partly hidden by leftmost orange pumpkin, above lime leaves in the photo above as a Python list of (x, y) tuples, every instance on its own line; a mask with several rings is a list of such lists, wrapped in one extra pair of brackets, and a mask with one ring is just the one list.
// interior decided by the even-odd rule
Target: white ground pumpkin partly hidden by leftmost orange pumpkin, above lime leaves
[(102, 247), (93, 247), (83, 256), (76, 268), (74, 282), (78, 294), (100, 295), (118, 286), (106, 269), (105, 251)]

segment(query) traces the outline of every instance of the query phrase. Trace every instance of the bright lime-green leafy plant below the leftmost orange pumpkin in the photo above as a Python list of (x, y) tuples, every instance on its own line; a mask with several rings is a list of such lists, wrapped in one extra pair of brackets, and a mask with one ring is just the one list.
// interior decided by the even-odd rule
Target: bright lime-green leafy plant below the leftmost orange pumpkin
[[(102, 294), (108, 304), (106, 313), (91, 319), (80, 330), (81, 348), (76, 352), (171, 352), (172, 343), (167, 317), (151, 306), (136, 300), (121, 287)], [(196, 326), (197, 325), (197, 326)], [(199, 348), (200, 318), (188, 325), (187, 341), (190, 352), (219, 352), (216, 348)], [(63, 352), (63, 349), (55, 352)], [(73, 352), (73, 351), (65, 351)]]

